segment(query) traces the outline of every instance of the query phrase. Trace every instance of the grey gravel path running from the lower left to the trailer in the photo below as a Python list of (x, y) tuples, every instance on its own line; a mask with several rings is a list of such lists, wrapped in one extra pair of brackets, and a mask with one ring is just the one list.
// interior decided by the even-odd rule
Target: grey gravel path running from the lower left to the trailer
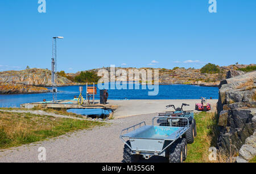
[(0, 162), (40, 162), (38, 148), (46, 148), (46, 162), (121, 162), (123, 142), (119, 139), (122, 129), (142, 121), (151, 124), (157, 114), (137, 115), (114, 119), (108, 126), (94, 127), (9, 150), (0, 151)]

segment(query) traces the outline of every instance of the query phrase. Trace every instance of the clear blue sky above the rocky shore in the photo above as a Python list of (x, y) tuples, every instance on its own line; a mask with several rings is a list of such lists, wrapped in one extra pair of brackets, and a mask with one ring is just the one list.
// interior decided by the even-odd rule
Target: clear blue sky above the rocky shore
[(0, 1), (0, 71), (51, 68), (52, 36), (58, 69), (195, 67), (256, 63), (256, 1), (217, 0)]

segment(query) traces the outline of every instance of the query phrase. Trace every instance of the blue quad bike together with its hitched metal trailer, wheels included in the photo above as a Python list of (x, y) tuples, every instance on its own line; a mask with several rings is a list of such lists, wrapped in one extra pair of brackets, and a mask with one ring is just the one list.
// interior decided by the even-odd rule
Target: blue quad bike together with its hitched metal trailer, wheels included
[[(123, 161), (131, 163), (141, 158), (163, 156), (170, 163), (183, 162), (187, 158), (187, 143), (194, 141), (196, 125), (193, 114), (183, 111), (182, 106), (180, 109), (154, 117), (152, 125), (141, 122), (122, 130)], [(174, 113), (176, 115), (172, 116)]]

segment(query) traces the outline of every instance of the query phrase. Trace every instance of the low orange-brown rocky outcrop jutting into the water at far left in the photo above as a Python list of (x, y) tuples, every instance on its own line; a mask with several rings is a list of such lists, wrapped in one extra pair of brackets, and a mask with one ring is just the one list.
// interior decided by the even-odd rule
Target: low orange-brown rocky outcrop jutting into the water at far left
[(47, 93), (47, 88), (21, 84), (0, 83), (0, 94), (34, 94)]

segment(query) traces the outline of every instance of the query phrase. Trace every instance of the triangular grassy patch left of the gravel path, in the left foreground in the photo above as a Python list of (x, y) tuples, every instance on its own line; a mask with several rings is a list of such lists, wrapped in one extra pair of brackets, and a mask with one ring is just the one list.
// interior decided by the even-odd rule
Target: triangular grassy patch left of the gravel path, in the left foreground
[(0, 148), (20, 146), (102, 125), (106, 123), (0, 111)]

